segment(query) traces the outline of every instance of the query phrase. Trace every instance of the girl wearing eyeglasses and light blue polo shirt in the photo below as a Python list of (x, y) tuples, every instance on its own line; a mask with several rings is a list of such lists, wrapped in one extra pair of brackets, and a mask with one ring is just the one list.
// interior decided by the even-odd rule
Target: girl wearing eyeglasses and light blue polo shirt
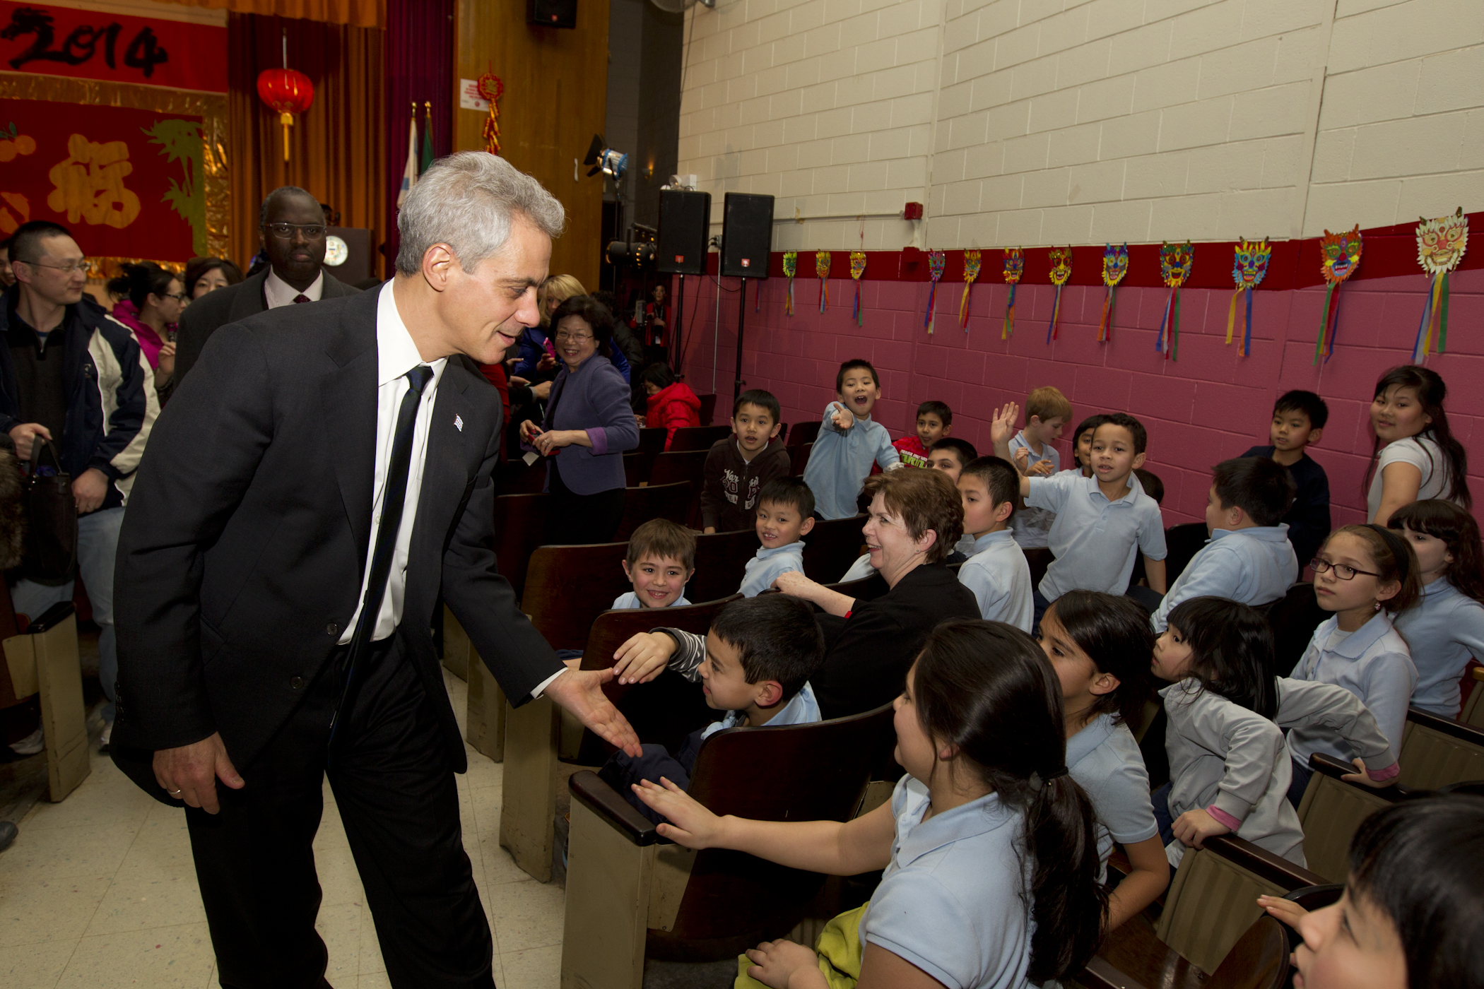
[[(1417, 603), (1422, 592), (1417, 555), (1398, 532), (1380, 525), (1346, 525), (1330, 534), (1313, 568), (1313, 593), (1334, 617), (1313, 630), (1293, 676), (1339, 684), (1376, 715), (1386, 738), (1401, 750), (1407, 706), (1417, 687), (1417, 667), (1407, 641), (1392, 626), (1392, 615)], [(1309, 756), (1315, 752), (1349, 762), (1352, 753), (1334, 732), (1321, 727), (1288, 732), (1294, 807), (1309, 786)]]

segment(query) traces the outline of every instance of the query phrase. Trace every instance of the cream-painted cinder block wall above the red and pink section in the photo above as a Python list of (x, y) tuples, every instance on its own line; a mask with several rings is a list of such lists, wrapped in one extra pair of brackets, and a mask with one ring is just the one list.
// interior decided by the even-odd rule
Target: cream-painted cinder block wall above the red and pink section
[[(1297, 237), (1484, 203), (1484, 0), (720, 0), (680, 171), (775, 249)], [(926, 230), (898, 218), (928, 206)], [(818, 219), (816, 219), (818, 218)]]

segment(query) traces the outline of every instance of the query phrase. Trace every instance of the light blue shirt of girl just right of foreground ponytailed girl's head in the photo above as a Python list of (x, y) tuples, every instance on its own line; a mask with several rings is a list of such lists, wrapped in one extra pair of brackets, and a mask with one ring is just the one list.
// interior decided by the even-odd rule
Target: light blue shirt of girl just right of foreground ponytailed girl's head
[(1137, 845), (1159, 833), (1149, 802), (1149, 771), (1134, 732), (1128, 725), (1114, 725), (1112, 715), (1098, 715), (1067, 738), (1067, 775), (1092, 801), (1098, 821), (1098, 882), (1107, 882), (1113, 842)]

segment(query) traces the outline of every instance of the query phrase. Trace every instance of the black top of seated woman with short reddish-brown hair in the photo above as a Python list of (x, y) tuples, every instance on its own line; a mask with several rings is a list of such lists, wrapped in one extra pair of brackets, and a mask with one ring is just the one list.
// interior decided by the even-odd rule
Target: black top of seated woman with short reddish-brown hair
[(815, 615), (827, 644), (824, 666), (809, 678), (819, 713), (844, 718), (890, 703), (902, 692), (907, 670), (933, 626), (978, 617), (974, 592), (944, 563), (908, 571), (880, 598), (856, 598), (849, 618)]

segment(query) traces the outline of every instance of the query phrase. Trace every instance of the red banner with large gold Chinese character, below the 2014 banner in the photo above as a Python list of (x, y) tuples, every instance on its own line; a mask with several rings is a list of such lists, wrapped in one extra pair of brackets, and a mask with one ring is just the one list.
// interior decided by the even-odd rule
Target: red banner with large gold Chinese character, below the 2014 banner
[(91, 257), (206, 254), (200, 123), (122, 107), (0, 102), (0, 236), (50, 219)]

